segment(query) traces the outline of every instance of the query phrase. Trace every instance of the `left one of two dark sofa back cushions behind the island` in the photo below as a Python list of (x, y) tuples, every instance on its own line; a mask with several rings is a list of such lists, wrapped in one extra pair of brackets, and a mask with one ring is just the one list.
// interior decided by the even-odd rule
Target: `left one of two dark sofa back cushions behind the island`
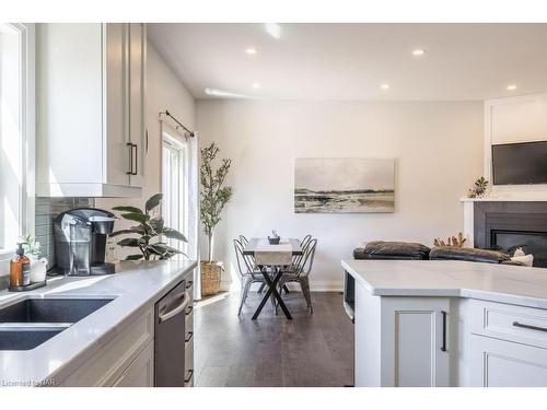
[(430, 248), (410, 242), (369, 242), (364, 248), (353, 250), (354, 259), (428, 259)]

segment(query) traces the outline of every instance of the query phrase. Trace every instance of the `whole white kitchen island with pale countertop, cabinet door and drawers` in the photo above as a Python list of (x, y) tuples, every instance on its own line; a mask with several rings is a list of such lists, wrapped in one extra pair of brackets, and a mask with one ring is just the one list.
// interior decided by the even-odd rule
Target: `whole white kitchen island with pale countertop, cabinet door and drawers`
[(356, 386), (547, 386), (547, 269), (342, 260)]

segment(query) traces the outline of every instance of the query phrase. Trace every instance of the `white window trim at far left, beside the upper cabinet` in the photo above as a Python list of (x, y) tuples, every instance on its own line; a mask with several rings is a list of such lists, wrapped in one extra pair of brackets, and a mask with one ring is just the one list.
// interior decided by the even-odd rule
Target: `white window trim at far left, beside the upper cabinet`
[[(19, 198), (19, 235), (23, 235), (24, 233), (34, 234), (35, 219), (35, 25), (27, 23), (9, 23), (9, 25), (19, 32), (21, 49), (21, 167), (19, 176), (22, 184)], [(2, 262), (9, 260), (14, 250), (15, 244), (12, 247), (0, 248), (0, 274), (4, 273)]]

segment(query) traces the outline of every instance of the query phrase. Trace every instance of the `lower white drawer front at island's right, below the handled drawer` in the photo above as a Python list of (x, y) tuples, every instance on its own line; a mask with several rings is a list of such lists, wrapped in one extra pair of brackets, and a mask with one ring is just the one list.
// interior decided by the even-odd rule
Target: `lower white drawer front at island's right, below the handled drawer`
[(472, 386), (547, 386), (547, 350), (477, 335), (470, 348)]

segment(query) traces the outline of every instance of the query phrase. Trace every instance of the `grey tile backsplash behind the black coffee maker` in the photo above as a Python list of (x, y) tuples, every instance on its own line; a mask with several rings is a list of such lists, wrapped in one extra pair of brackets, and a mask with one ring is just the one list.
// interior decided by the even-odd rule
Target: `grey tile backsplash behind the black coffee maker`
[(82, 207), (95, 207), (94, 198), (36, 198), (35, 235), (42, 255), (49, 261), (47, 269), (55, 266), (54, 219), (59, 213)]

